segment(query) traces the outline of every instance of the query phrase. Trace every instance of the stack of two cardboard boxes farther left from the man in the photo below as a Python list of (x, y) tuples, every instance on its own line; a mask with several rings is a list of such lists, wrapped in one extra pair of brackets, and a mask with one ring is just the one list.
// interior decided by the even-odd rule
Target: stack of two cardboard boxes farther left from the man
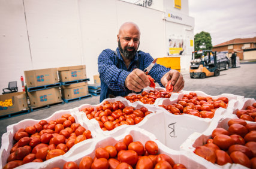
[[(26, 86), (28, 88), (52, 85), (59, 82), (57, 68), (24, 71), (24, 74)], [(28, 96), (32, 108), (55, 104), (62, 101), (59, 87), (28, 92)]]

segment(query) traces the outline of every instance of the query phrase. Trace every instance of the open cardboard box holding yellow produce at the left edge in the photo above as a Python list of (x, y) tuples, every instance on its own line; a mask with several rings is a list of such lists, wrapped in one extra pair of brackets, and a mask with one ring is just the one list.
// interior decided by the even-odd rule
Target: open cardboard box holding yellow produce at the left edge
[(5, 99), (12, 99), (13, 105), (9, 107), (0, 106), (0, 116), (16, 113), (22, 110), (28, 110), (28, 102), (26, 101), (25, 92), (15, 92), (0, 95), (0, 101), (5, 101)]

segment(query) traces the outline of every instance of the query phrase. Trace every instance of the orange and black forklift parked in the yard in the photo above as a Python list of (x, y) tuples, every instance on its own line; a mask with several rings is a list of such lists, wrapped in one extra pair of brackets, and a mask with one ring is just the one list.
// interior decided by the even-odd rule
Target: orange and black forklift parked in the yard
[(216, 61), (216, 52), (212, 50), (198, 50), (192, 52), (189, 74), (191, 78), (219, 76), (219, 68)]

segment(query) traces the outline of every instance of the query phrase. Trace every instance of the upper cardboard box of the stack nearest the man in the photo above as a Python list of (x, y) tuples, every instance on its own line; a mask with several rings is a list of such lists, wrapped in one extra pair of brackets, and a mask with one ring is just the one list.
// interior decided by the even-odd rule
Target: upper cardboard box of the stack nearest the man
[(74, 67), (58, 68), (59, 80), (61, 82), (70, 82), (73, 80), (86, 79), (85, 65)]

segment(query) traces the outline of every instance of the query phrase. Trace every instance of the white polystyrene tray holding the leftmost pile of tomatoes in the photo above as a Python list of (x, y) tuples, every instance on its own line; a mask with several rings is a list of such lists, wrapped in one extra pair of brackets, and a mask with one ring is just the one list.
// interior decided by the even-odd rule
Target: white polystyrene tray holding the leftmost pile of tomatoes
[[(76, 123), (79, 123), (80, 125), (82, 125), (86, 129), (91, 128), (91, 126), (89, 127), (88, 123), (85, 123), (82, 120), (82, 117), (80, 116), (80, 114), (75, 113), (73, 109), (56, 111), (55, 113), (52, 114), (52, 116), (50, 116), (50, 117), (48, 117), (47, 119), (44, 119), (44, 120), (46, 120), (47, 122), (49, 122), (50, 120), (56, 120), (59, 117), (61, 117), (62, 114), (71, 114), (71, 116), (73, 116), (75, 118)], [(7, 163), (7, 158), (10, 155), (11, 148), (13, 147), (13, 135), (16, 133), (16, 131), (19, 130), (20, 128), (25, 129), (27, 126), (34, 126), (35, 123), (38, 123), (38, 122), (40, 122), (40, 120), (25, 119), (25, 120), (22, 120), (18, 123), (13, 124), (13, 125), (7, 126), (7, 132), (5, 132), (2, 135), (2, 144), (1, 144), (2, 146), (1, 146), (1, 149), (0, 149), (0, 155), (1, 155), (0, 167), (1, 168), (4, 167), (4, 165)], [(91, 131), (91, 133), (92, 133), (92, 138), (94, 138), (95, 137), (95, 131)], [(88, 140), (85, 140), (85, 141), (82, 141), (82, 142), (91, 142), (91, 141), (93, 141), (93, 139), (88, 139)], [(78, 146), (79, 144), (82, 144), (82, 142), (74, 145), (70, 150), (73, 150), (74, 147)], [(35, 165), (34, 162), (33, 162), (33, 164)], [(36, 163), (36, 164), (38, 164), (38, 163)]]

